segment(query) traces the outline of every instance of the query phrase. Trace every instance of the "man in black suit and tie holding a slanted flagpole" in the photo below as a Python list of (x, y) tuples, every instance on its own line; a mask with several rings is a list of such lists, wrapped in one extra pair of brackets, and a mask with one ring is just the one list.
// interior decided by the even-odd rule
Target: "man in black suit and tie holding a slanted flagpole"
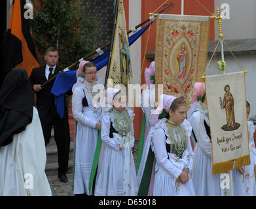
[(56, 65), (58, 62), (58, 50), (54, 47), (46, 49), (45, 61), (46, 65), (33, 69), (29, 79), (33, 90), (37, 91), (35, 106), (39, 112), (43, 135), (45, 137), (45, 146), (50, 140), (53, 126), (54, 140), (58, 148), (58, 178), (60, 178), (61, 182), (67, 182), (68, 180), (65, 174), (68, 169), (70, 146), (67, 106), (65, 105), (64, 108), (64, 117), (60, 118), (56, 106), (54, 105), (54, 95), (50, 93), (54, 81), (43, 88), (41, 87), (41, 85), (52, 78), (52, 76), (62, 71), (62, 69)]

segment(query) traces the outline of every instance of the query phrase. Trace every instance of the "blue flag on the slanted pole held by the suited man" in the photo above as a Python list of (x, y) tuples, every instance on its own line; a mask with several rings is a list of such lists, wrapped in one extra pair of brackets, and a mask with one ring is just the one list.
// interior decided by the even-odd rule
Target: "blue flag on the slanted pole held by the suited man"
[[(151, 24), (153, 24), (153, 22), (151, 22)], [(139, 37), (141, 37), (141, 35), (149, 28), (149, 25), (150, 24), (146, 25), (145, 27), (137, 31), (137, 33), (134, 33), (134, 35), (129, 37), (130, 46), (137, 39), (139, 39)], [(101, 54), (101, 56), (98, 56), (95, 59), (92, 59), (91, 62), (93, 62), (96, 65), (97, 71), (100, 71), (101, 68), (107, 65), (108, 58), (109, 58), (109, 50)], [(77, 70), (61, 72), (56, 77), (54, 85), (52, 86), (51, 92), (55, 95), (54, 103), (56, 105), (57, 112), (60, 115), (60, 118), (63, 118), (64, 116), (64, 93), (67, 92), (69, 89), (71, 89), (73, 85), (77, 82), (76, 73), (77, 73)]]

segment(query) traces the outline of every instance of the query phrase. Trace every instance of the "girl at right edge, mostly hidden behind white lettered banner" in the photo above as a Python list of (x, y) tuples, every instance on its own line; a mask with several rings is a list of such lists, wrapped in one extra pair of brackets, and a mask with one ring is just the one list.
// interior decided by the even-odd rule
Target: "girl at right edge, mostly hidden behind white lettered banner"
[[(246, 101), (246, 113), (247, 119), (249, 113), (251, 112), (251, 107)], [(256, 148), (253, 139), (253, 134), (255, 127), (252, 121), (247, 121), (248, 123), (248, 135), (249, 135), (249, 152), (251, 157), (251, 164), (246, 165), (240, 169), (232, 170), (233, 174), (233, 188), (234, 196), (255, 196), (256, 195), (256, 183), (255, 183), (255, 171), (256, 171)]]

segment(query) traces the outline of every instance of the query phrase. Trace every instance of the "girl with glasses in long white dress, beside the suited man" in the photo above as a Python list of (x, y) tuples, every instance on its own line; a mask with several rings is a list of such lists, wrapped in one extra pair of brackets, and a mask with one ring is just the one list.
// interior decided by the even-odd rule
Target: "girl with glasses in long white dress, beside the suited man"
[(92, 91), (98, 84), (94, 63), (85, 63), (81, 73), (84, 74), (84, 85), (74, 89), (72, 98), (73, 117), (78, 121), (75, 137), (74, 194), (91, 195), (89, 180), (101, 126), (101, 107), (93, 104), (93, 97), (98, 93)]

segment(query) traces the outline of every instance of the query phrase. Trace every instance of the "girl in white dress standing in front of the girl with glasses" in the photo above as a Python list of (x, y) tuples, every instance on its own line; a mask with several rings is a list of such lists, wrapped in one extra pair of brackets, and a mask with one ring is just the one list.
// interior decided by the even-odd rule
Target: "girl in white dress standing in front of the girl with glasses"
[[(107, 88), (107, 100), (112, 102), (119, 92), (120, 89)], [(120, 99), (115, 97), (119, 104)], [(137, 195), (131, 150), (134, 146), (132, 110), (118, 103), (113, 101), (113, 107), (105, 111), (101, 121), (101, 140), (107, 146), (96, 182), (95, 195), (98, 196)]]

